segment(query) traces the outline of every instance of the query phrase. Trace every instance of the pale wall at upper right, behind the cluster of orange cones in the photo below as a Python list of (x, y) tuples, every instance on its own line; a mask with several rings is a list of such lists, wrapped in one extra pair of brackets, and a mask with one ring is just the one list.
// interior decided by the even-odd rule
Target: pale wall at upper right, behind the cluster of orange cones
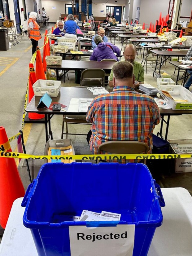
[[(183, 0), (181, 5), (181, 16), (190, 16), (191, 0)], [(150, 22), (154, 23), (156, 20), (159, 20), (159, 14), (162, 12), (162, 18), (168, 14), (168, 0), (141, 0), (140, 6), (140, 23), (145, 22), (146, 24), (150, 24)], [(180, 19), (186, 20), (186, 19)]]

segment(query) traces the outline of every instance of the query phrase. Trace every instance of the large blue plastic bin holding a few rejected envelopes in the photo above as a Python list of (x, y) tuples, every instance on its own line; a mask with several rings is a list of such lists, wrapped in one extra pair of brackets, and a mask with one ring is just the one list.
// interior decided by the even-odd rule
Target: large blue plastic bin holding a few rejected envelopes
[[(133, 255), (144, 256), (163, 222), (164, 200), (144, 164), (47, 163), (29, 185), (22, 206), (24, 226), (31, 229), (41, 256), (71, 255), (69, 226), (95, 224), (65, 221), (65, 215), (80, 216), (82, 210), (120, 213), (115, 226), (135, 224)], [(99, 224), (109, 226), (108, 221)]]

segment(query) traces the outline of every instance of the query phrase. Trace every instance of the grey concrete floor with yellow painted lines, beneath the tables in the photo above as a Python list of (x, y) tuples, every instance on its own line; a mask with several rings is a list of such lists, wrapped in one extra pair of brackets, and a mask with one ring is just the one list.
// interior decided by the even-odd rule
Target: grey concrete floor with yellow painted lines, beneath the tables
[[(48, 32), (52, 24), (47, 27)], [(41, 33), (44, 34), (44, 29)], [(39, 41), (39, 46), (43, 45), (43, 38)], [(120, 45), (116, 40), (116, 45)], [(42, 51), (42, 50), (41, 50)], [(42, 53), (42, 52), (41, 52)], [(0, 51), (0, 102), (2, 106), (0, 114), (0, 125), (4, 126), (8, 138), (17, 134), (21, 129), (22, 115), (24, 108), (25, 92), (28, 80), (28, 64), (32, 56), (31, 42), (24, 35), (24, 40), (13, 46), (8, 51)], [(135, 60), (141, 62), (141, 55)], [(35, 66), (35, 65), (34, 65)], [(176, 81), (176, 76), (173, 76), (174, 67), (167, 61), (166, 72), (172, 74), (172, 79)], [(145, 73), (145, 83), (156, 86), (156, 78), (152, 77), (153, 68), (148, 68), (148, 73)], [(75, 74), (69, 73), (69, 80), (66, 78), (62, 86), (74, 86)], [(190, 139), (192, 138), (192, 115), (172, 116), (170, 118), (168, 139)], [(55, 115), (51, 119), (51, 128), (53, 138), (61, 138), (62, 116)], [(71, 132), (86, 133), (90, 129), (88, 125), (69, 125)], [(160, 124), (155, 127), (154, 133), (160, 130)], [(43, 155), (45, 148), (45, 127), (44, 124), (25, 124), (24, 125), (25, 146), (28, 154)], [(90, 154), (89, 146), (85, 136), (69, 135), (72, 139), (76, 154)], [(12, 151), (15, 151), (17, 141), (11, 142)], [(36, 178), (40, 166), (44, 163), (43, 160), (29, 160), (32, 179)], [(21, 160), (18, 165), (22, 181), (25, 189), (29, 185), (26, 164)], [(184, 187), (192, 194), (192, 173), (170, 174), (169, 167), (165, 164), (162, 166), (164, 174), (155, 175), (158, 183), (162, 188), (168, 187)]]

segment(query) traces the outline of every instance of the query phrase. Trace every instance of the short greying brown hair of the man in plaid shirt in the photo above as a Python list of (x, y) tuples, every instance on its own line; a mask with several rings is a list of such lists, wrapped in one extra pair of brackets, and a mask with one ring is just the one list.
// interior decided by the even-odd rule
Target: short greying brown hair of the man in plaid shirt
[(113, 65), (113, 76), (116, 79), (133, 77), (133, 65), (129, 61), (119, 61)]

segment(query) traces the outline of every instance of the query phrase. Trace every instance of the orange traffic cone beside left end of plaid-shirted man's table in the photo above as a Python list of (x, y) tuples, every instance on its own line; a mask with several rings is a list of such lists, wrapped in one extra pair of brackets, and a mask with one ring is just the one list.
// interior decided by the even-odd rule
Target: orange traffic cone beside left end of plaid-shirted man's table
[[(29, 84), (28, 84), (28, 100), (29, 102), (31, 101), (31, 99), (34, 96), (34, 92), (33, 92), (33, 84), (37, 81), (37, 77), (35, 75), (35, 69), (33, 66), (33, 63), (29, 63)], [(41, 119), (44, 118), (44, 115), (41, 114), (37, 114), (37, 113), (28, 113), (28, 118), (30, 119)]]

